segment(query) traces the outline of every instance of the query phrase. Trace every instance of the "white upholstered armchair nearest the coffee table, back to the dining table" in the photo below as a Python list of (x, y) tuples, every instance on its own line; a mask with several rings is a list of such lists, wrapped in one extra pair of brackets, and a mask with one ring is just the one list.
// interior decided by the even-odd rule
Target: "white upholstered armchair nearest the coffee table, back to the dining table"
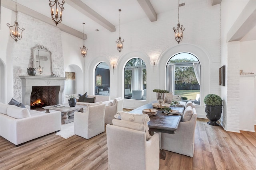
[[(91, 105), (91, 106), (90, 106)], [(89, 104), (86, 112), (74, 112), (74, 134), (90, 139), (105, 131), (105, 104), (102, 102)]]

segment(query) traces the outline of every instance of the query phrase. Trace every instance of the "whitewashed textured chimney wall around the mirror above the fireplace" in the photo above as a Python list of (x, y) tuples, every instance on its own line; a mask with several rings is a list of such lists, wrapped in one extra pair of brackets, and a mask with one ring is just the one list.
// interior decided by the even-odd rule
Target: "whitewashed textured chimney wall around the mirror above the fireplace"
[(44, 46), (52, 52), (52, 71), (59, 68), (59, 74), (64, 77), (64, 60), (61, 42), (61, 31), (40, 20), (18, 12), (18, 23), (24, 27), (22, 39), (12, 44), (13, 88), (14, 98), (21, 101), (22, 86), (20, 75), (28, 75), (27, 67), (32, 67), (32, 49)]

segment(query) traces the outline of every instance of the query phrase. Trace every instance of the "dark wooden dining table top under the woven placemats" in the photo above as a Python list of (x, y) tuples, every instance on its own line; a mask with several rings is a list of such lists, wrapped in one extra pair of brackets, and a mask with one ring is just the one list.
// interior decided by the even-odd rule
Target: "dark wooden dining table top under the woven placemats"
[[(153, 109), (154, 107), (152, 104), (145, 104), (143, 106), (138, 107), (137, 109), (134, 109), (132, 111), (129, 111), (129, 113), (142, 113), (143, 109)], [(183, 112), (184, 107), (170, 107), (174, 110), (178, 110), (179, 112)], [(158, 112), (156, 115), (149, 116), (150, 121), (148, 122), (149, 131), (154, 132), (162, 132), (162, 133), (170, 133), (174, 134), (175, 131), (178, 129), (178, 125), (180, 123), (180, 120), (182, 118), (181, 115), (167, 115), (165, 113), (162, 113), (161, 109), (157, 109)]]

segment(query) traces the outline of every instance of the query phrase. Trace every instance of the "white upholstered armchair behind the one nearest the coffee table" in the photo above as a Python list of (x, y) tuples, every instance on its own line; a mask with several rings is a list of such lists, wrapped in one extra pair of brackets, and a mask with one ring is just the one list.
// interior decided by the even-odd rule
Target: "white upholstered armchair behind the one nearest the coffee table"
[(114, 99), (112, 106), (106, 106), (106, 111), (105, 111), (106, 124), (112, 125), (112, 119), (114, 119), (114, 115), (116, 115), (118, 111), (123, 111), (123, 103), (124, 103), (124, 99), (120, 97), (120, 98)]

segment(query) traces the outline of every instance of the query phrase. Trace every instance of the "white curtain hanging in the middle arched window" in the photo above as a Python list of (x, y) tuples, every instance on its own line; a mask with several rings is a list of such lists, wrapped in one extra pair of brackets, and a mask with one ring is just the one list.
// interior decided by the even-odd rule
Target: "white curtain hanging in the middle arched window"
[(132, 68), (132, 90), (142, 90), (142, 67)]

